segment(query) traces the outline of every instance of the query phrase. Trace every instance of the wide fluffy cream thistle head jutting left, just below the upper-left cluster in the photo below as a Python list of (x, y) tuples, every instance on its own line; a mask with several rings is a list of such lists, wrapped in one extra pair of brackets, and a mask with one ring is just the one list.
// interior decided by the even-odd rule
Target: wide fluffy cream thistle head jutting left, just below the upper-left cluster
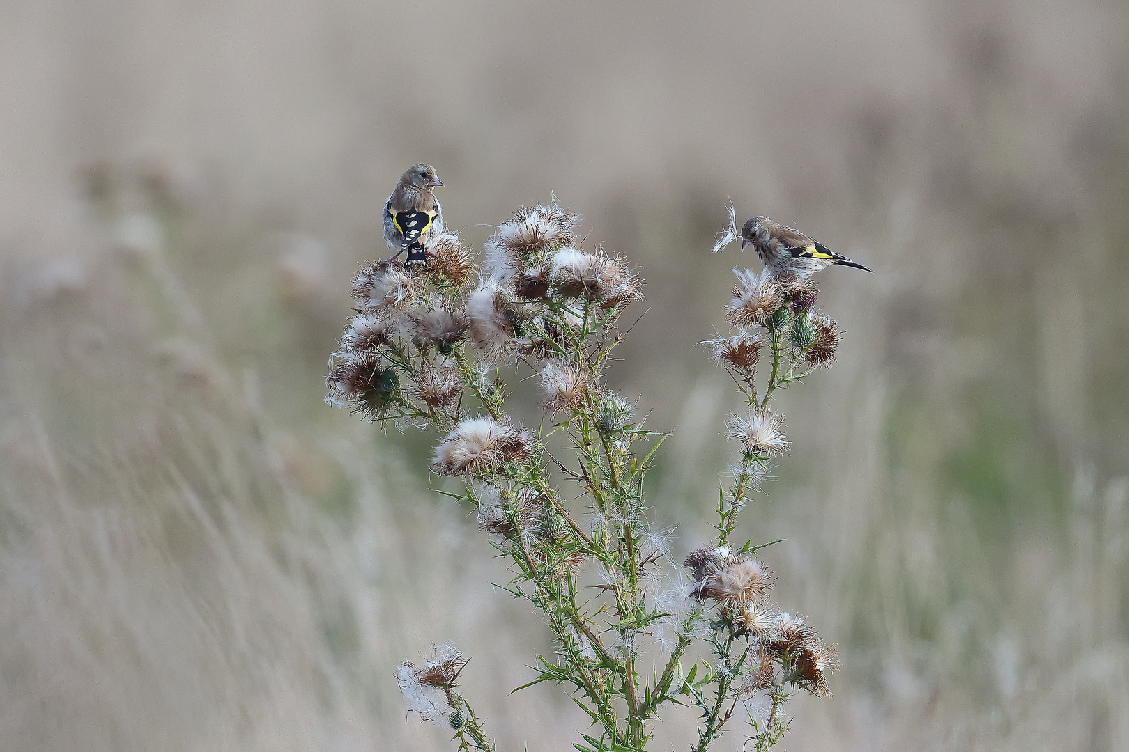
[(465, 418), (439, 442), (431, 465), (445, 476), (490, 475), (506, 462), (527, 458), (534, 444), (533, 435), (519, 426), (490, 417)]

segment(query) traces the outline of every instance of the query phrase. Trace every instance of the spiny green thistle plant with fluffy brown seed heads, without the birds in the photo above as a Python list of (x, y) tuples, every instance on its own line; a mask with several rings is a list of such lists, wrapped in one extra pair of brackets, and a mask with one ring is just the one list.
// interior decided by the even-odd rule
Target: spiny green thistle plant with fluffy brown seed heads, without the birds
[[(700, 710), (695, 752), (738, 708), (751, 745), (769, 750), (787, 729), (791, 692), (830, 695), (834, 647), (769, 603), (773, 573), (755, 558), (761, 547), (730, 538), (788, 448), (769, 407), (774, 391), (833, 361), (838, 326), (813, 312), (811, 281), (737, 273), (725, 311), (736, 331), (704, 344), (747, 400), (727, 422), (739, 460), (719, 487), (716, 537), (663, 590), (666, 536), (649, 522), (644, 478), (665, 434), (602, 382), (641, 282), (624, 259), (576, 247), (577, 221), (555, 205), (520, 209), (489, 238), (481, 266), (444, 235), (426, 265), (365, 268), (327, 401), (437, 434), (434, 472), (464, 481), (448, 495), (476, 510), (514, 574), (506, 590), (552, 630), (557, 655), (539, 656), (525, 685), (567, 688), (592, 720), (577, 750), (646, 750), (673, 706)], [(758, 366), (769, 359), (764, 378)], [(535, 424), (507, 409), (504, 375), (526, 368), (544, 408)], [(579, 498), (566, 501), (570, 489)], [(452, 646), (436, 648), (399, 666), (400, 685), (422, 719), (450, 725), (460, 750), (493, 752), (456, 691), (466, 663)]]

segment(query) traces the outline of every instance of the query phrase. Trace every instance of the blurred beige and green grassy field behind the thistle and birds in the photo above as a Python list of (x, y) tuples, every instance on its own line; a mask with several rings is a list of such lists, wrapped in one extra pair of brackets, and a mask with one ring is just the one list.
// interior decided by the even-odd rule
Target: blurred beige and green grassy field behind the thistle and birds
[(822, 276), (839, 363), (782, 395), (794, 451), (745, 520), (842, 655), (788, 749), (1129, 747), (1127, 21), (0, 3), (0, 747), (452, 749), (393, 676), (446, 640), (499, 749), (575, 736), (555, 689), (508, 696), (548, 632), (428, 490), (435, 437), (321, 401), (419, 160), (472, 244), (555, 195), (640, 265), (609, 379), (673, 430), (650, 497), (675, 561), (730, 459), (694, 348), (758, 266), (707, 251), (726, 202), (878, 271)]

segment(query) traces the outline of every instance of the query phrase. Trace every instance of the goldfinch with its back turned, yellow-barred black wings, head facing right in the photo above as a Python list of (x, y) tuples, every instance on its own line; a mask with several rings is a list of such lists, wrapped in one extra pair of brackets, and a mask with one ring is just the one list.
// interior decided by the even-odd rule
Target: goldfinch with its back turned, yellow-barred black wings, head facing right
[(443, 182), (430, 165), (414, 165), (400, 177), (400, 184), (384, 204), (384, 239), (396, 256), (408, 251), (404, 264), (426, 262), (434, 238), (443, 232), (443, 209), (435, 197)]

